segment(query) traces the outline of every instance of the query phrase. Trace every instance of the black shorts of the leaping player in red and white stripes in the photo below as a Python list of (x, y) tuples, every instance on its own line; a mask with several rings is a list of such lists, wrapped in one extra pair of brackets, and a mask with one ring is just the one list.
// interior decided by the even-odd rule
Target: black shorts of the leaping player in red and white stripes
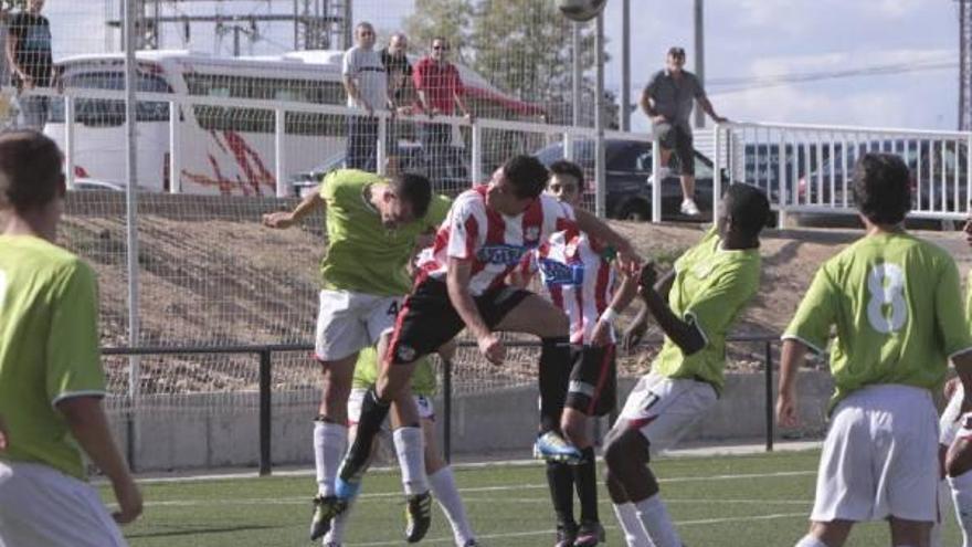
[[(489, 328), (533, 293), (510, 286), (490, 288), (474, 296), (479, 315)], [(391, 338), (392, 365), (413, 362), (455, 338), (466, 324), (448, 299), (445, 282), (427, 277), (405, 297)]]

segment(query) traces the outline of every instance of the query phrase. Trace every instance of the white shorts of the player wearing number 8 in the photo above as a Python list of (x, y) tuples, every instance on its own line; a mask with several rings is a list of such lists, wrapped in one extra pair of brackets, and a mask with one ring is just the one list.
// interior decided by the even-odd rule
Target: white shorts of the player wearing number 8
[(938, 517), (938, 413), (927, 389), (868, 386), (834, 409), (811, 519)]

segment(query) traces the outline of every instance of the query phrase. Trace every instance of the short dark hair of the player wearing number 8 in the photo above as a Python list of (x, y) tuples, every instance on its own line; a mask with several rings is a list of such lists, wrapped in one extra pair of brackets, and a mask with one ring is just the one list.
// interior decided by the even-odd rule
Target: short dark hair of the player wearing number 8
[(854, 201), (875, 224), (897, 224), (911, 210), (911, 171), (894, 154), (865, 154), (854, 166)]

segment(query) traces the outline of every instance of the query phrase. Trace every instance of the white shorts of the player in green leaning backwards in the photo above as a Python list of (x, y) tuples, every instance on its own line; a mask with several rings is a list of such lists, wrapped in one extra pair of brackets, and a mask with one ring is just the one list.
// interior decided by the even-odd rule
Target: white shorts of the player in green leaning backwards
[(657, 454), (674, 446), (717, 399), (716, 390), (708, 382), (651, 372), (631, 390), (619, 425), (640, 430), (648, 440), (651, 453)]

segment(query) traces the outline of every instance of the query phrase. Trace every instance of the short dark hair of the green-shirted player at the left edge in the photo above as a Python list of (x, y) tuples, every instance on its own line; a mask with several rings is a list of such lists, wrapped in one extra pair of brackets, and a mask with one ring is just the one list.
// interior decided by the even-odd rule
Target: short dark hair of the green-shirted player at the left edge
[(0, 209), (23, 212), (53, 201), (63, 188), (61, 162), (57, 145), (40, 132), (0, 134)]

